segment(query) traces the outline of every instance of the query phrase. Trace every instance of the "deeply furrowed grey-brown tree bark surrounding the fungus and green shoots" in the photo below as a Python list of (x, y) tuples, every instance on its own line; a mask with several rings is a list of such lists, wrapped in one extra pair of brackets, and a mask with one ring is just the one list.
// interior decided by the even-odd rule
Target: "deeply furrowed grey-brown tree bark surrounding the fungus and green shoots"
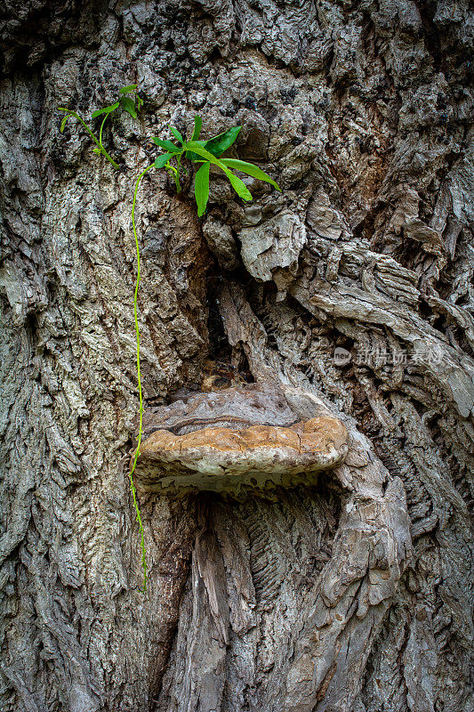
[[(467, 0), (0, 12), (2, 710), (472, 709)], [(115, 172), (56, 108), (135, 81)], [(198, 221), (143, 180), (147, 404), (227, 362), (301, 417), (324, 403), (351, 448), (274, 501), (141, 493), (142, 595), (133, 179), (196, 112), (209, 135), (244, 125), (238, 156), (284, 190), (249, 181), (244, 206), (216, 177)]]

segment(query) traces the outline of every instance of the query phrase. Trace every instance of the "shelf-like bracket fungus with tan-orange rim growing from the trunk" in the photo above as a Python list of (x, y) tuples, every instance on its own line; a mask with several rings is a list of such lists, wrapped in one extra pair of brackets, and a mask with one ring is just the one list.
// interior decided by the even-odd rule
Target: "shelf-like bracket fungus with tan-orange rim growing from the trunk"
[(338, 418), (321, 409), (301, 419), (274, 384), (200, 392), (148, 409), (143, 435), (137, 484), (170, 495), (211, 490), (242, 497), (314, 484), (349, 447)]

